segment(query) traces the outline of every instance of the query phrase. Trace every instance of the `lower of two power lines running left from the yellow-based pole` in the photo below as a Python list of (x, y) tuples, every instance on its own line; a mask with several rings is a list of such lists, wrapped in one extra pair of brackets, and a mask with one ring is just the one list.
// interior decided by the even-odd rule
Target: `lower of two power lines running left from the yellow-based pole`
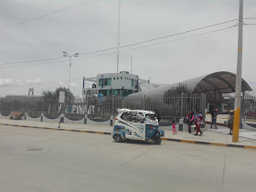
[[(237, 25), (233, 25), (233, 26), (230, 26), (230, 27), (224, 27), (224, 28), (220, 28), (220, 29), (217, 29), (217, 30), (208, 31), (208, 32), (196, 34), (196, 35), (193, 35), (193, 36), (181, 37), (181, 38), (176, 38), (176, 39), (172, 39), (172, 40), (168, 40), (168, 41), (162, 41), (162, 42), (158, 42), (158, 43), (154, 43), (154, 44), (150, 44), (150, 45), (145, 45), (145, 46), (138, 47), (138, 48), (124, 49), (124, 50), (121, 50), (120, 52), (135, 50), (135, 49), (139, 49), (139, 48), (153, 47), (153, 46), (156, 46), (156, 45), (161, 45), (161, 44), (165, 44), (165, 43), (169, 43), (169, 42), (173, 42), (173, 41), (183, 40), (183, 39), (187, 39), (187, 38), (190, 38), (190, 37), (198, 37), (198, 36), (202, 36), (202, 35), (206, 35), (206, 34), (210, 34), (210, 33), (219, 32), (219, 31), (222, 31), (222, 30), (227, 30), (227, 29), (232, 28), (232, 27), (237, 27)], [(114, 51), (114, 52), (110, 52), (110, 53), (103, 53), (103, 54), (100, 54), (100, 55), (89, 56), (89, 57), (84, 57), (84, 58), (79, 58), (79, 59), (74, 59), (74, 60), (97, 58), (97, 57), (101, 57), (101, 56), (105, 56), (105, 55), (112, 55), (112, 54), (116, 54), (116, 52)], [(28, 67), (28, 66), (40, 66), (40, 65), (48, 65), (48, 64), (57, 64), (57, 63), (60, 63), (60, 62), (67, 62), (67, 61), (65, 61), (65, 60), (63, 61), (62, 60), (62, 61), (57, 61), (55, 63), (45, 63), (45, 64), (37, 64), (37, 65), (31, 64), (31, 65), (26, 65), (26, 66), (7, 67), (7, 68), (0, 68), (0, 69), (23, 68), (23, 67)]]

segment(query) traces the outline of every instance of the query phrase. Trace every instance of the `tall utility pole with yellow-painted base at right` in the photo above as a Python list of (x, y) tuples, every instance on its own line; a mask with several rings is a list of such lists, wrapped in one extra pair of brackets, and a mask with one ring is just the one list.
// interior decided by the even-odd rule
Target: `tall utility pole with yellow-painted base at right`
[(237, 60), (237, 78), (236, 78), (236, 98), (235, 112), (233, 122), (233, 142), (239, 142), (240, 133), (240, 90), (241, 90), (241, 64), (242, 64), (242, 26), (243, 26), (243, 0), (240, 0), (239, 16), (239, 43), (238, 43), (238, 60)]

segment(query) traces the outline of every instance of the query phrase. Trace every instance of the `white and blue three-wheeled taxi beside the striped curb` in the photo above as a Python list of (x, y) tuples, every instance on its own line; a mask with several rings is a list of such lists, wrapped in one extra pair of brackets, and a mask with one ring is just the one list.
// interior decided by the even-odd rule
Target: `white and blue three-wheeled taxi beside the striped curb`
[(119, 143), (123, 139), (154, 141), (161, 144), (160, 136), (165, 136), (165, 131), (159, 129), (159, 123), (155, 119), (155, 112), (142, 110), (118, 109), (112, 137)]

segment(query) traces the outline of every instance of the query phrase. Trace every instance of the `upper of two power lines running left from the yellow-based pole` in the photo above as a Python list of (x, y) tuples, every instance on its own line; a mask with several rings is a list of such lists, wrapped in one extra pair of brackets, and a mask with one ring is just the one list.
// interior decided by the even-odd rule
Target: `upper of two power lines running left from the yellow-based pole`
[[(216, 26), (219, 26), (219, 25), (227, 24), (227, 23), (230, 23), (230, 22), (233, 22), (233, 21), (236, 21), (236, 20), (238, 20), (238, 19), (232, 19), (232, 20), (229, 20), (229, 21), (224, 21), (224, 22), (221, 22), (221, 23), (218, 23), (218, 24), (213, 24), (213, 25), (207, 26), (207, 27), (199, 27), (199, 28), (187, 30), (187, 31), (184, 31), (184, 32), (179, 32), (179, 33), (176, 33), (176, 34), (167, 35), (167, 36), (164, 36), (164, 37), (156, 37), (156, 38), (152, 38), (152, 39), (147, 39), (147, 40), (144, 40), (144, 41), (139, 41), (137, 43), (120, 46), (119, 48), (131, 47), (131, 46), (135, 46), (135, 45), (139, 45), (139, 44), (143, 44), (143, 43), (163, 39), (163, 38), (166, 38), (166, 37), (175, 37), (175, 36), (178, 36), (178, 35), (183, 35), (183, 34), (187, 34), (187, 33), (190, 33), (190, 32), (195, 32), (197, 30), (202, 30), (202, 29), (205, 29), (205, 28), (208, 28), (208, 27), (216, 27)], [(91, 51), (91, 52), (80, 53), (80, 55), (89, 55), (89, 54), (93, 54), (93, 53), (105, 52), (105, 51), (116, 49), (116, 48), (117, 47), (104, 48), (104, 49), (95, 50), (95, 51)], [(62, 57), (51, 58), (51, 59), (62, 59)], [(37, 61), (43, 61), (43, 60), (50, 60), (50, 59), (36, 59), (36, 60), (28, 60), (28, 61), (20, 61), (20, 62), (9, 62), (9, 63), (2, 63), (0, 65), (7, 65), (7, 64), (8, 65), (13, 65), (13, 64), (19, 64), (19, 63), (22, 64), (22, 63), (27, 63), (27, 62), (37, 62)]]

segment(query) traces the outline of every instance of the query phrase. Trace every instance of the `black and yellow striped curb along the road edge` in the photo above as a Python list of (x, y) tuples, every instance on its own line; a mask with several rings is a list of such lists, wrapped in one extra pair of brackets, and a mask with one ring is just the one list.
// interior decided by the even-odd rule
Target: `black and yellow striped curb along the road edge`
[[(93, 131), (86, 131), (86, 130), (37, 127), (37, 126), (27, 126), (27, 125), (17, 125), (17, 124), (6, 124), (6, 123), (0, 123), (0, 125), (16, 126), (16, 127), (24, 127), (24, 128), (35, 128), (35, 129), (59, 130), (59, 131), (68, 131), (68, 132), (111, 134), (109, 132), (93, 132)], [(166, 137), (162, 137), (162, 140), (163, 141), (170, 141), (170, 142), (186, 143), (186, 144), (205, 144), (205, 145), (214, 145), (214, 146), (226, 146), (226, 147), (235, 147), (235, 148), (256, 149), (256, 146), (251, 146), (251, 145), (220, 144), (220, 143), (210, 143), (210, 142), (198, 142), (198, 141), (193, 141), (193, 140), (171, 139), (171, 138), (166, 138)]]

